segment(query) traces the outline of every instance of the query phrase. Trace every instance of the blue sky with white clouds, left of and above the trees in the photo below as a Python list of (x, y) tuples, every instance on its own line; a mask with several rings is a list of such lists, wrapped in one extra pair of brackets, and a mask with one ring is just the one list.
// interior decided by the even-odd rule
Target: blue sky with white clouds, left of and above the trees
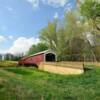
[(54, 18), (76, 8), (76, 0), (0, 0), (0, 53), (25, 53)]

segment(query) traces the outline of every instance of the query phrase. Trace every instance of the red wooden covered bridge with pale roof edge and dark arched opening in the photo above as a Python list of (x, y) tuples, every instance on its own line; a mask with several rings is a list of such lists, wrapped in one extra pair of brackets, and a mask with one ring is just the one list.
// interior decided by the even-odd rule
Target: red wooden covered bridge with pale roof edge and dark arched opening
[(57, 56), (52, 50), (45, 50), (31, 56), (22, 58), (19, 65), (35, 65), (38, 66), (41, 62), (54, 62), (57, 61)]

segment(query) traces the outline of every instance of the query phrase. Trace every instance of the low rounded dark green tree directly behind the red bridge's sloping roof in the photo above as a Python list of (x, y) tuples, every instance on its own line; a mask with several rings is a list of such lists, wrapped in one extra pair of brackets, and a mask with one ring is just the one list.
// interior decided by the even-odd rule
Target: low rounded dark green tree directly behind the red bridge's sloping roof
[(48, 49), (48, 46), (45, 43), (38, 43), (36, 45), (32, 45), (32, 47), (28, 51), (28, 55), (35, 54), (47, 49)]

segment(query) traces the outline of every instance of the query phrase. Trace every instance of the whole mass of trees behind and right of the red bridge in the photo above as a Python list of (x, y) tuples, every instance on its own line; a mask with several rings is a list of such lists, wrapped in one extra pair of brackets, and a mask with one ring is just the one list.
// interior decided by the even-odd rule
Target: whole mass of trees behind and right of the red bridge
[(29, 54), (52, 49), (59, 61), (100, 61), (100, 2), (85, 0), (75, 11), (54, 19), (40, 31), (43, 44), (33, 45)]

